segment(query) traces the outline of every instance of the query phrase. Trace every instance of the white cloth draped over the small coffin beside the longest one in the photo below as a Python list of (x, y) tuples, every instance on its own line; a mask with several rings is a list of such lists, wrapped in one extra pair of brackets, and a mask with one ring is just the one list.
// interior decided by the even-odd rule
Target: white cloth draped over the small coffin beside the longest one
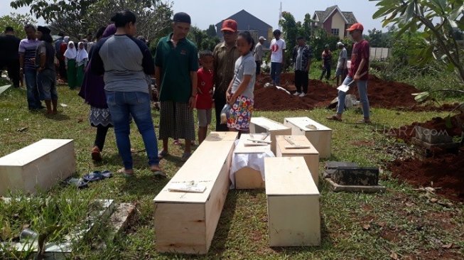
[[(235, 146), (237, 146), (239, 140), (235, 141)], [(261, 177), (264, 180), (264, 158), (266, 157), (276, 157), (271, 150), (266, 151), (265, 153), (234, 153), (232, 156), (232, 163), (230, 165), (229, 178), (232, 184), (230, 185), (231, 189), (235, 188), (235, 173), (238, 170), (249, 167), (253, 170), (259, 170)]]

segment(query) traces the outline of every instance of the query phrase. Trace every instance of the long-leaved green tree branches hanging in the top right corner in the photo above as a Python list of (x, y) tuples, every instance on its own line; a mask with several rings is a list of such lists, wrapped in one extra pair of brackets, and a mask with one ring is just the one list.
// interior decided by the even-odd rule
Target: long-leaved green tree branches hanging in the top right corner
[(423, 29), (420, 36), (426, 48), (414, 53), (418, 63), (441, 60), (464, 85), (464, 45), (458, 43), (456, 33), (464, 30), (464, 0), (369, 1), (378, 1), (379, 6), (372, 18), (383, 17), (383, 26), (399, 27), (396, 37)]

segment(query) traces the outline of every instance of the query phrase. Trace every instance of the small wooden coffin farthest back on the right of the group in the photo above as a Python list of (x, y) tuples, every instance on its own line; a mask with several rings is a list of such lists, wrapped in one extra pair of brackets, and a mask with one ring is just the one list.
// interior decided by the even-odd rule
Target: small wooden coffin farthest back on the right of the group
[[(308, 125), (313, 125), (317, 129), (309, 129)], [(318, 122), (308, 117), (290, 117), (284, 119), (284, 125), (291, 128), (293, 136), (306, 136), (313, 143), (316, 150), (319, 152), (320, 158), (328, 158), (330, 156), (330, 146), (332, 142), (332, 129), (323, 126)]]

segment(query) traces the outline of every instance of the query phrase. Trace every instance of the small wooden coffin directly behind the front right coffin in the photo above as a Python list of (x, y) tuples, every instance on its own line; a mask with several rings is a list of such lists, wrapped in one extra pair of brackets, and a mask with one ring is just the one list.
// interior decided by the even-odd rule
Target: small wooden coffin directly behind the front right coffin
[[(301, 146), (310, 146), (310, 148), (288, 149), (286, 146), (291, 146), (285, 138), (291, 139), (293, 143)], [(306, 136), (276, 136), (277, 141), (277, 157), (303, 156), (308, 166), (315, 185), (319, 185), (319, 152), (314, 148)]]

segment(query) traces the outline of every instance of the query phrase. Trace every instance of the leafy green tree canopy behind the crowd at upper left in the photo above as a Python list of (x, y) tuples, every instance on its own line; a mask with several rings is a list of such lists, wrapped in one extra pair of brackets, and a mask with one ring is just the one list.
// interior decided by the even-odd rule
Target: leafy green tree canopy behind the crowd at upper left
[(172, 4), (162, 0), (14, 0), (18, 8), (29, 4), (31, 13), (50, 23), (53, 33), (63, 32), (80, 40), (87, 32), (95, 32), (111, 23), (112, 15), (124, 9), (133, 11), (137, 18), (137, 33), (153, 40), (166, 33), (171, 26)]

